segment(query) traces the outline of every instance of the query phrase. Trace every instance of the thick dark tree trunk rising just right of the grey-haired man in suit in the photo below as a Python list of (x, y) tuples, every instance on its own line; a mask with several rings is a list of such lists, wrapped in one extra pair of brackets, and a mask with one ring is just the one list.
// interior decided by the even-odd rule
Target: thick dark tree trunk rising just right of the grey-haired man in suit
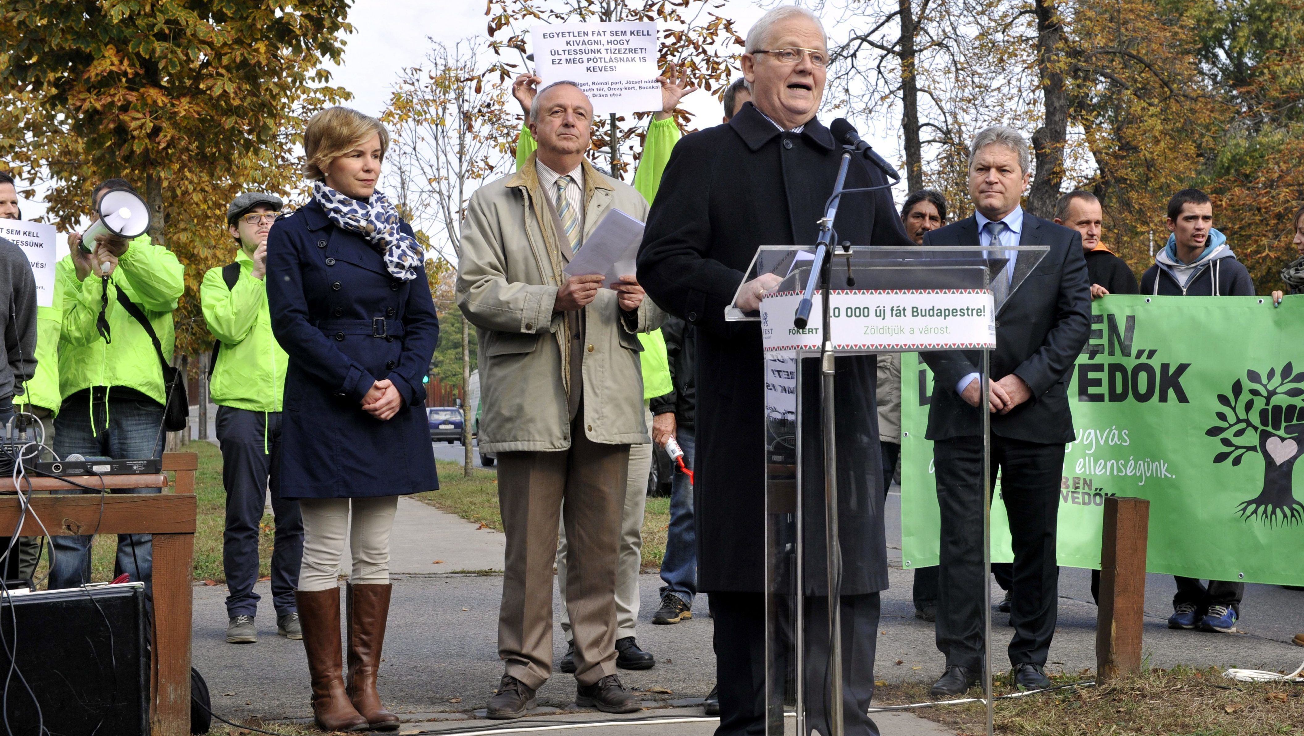
[(1046, 102), (1046, 121), (1033, 133), (1037, 176), (1028, 194), (1028, 211), (1051, 218), (1064, 180), (1064, 144), (1068, 140), (1068, 91), (1064, 89), (1063, 35), (1058, 0), (1034, 0), (1037, 10), (1037, 72)]

